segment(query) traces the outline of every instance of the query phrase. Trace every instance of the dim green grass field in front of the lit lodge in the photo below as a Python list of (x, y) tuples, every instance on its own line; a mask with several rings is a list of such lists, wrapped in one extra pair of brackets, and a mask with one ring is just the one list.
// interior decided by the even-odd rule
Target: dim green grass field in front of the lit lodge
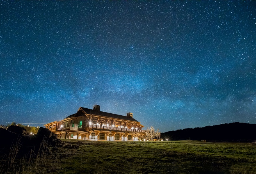
[(24, 163), (20, 173), (256, 173), (252, 143), (83, 142), (76, 150), (52, 149), (51, 155)]

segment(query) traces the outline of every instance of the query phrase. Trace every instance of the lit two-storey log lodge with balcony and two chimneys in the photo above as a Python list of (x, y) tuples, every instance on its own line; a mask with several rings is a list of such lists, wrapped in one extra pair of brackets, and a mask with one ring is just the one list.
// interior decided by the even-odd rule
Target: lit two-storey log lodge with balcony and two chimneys
[(144, 126), (135, 120), (132, 113), (127, 116), (100, 111), (100, 106), (93, 109), (80, 107), (77, 113), (64, 120), (44, 125), (58, 138), (84, 139), (94, 141), (140, 141), (145, 138)]

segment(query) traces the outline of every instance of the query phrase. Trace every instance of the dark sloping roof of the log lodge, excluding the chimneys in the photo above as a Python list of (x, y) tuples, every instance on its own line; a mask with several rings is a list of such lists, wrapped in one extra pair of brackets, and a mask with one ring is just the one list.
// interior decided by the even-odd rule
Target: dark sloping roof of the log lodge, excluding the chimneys
[[(83, 111), (86, 113), (86, 114), (93, 114), (93, 115), (99, 115), (99, 116), (106, 116), (106, 117), (111, 117), (111, 118), (117, 118), (117, 119), (121, 119), (121, 120), (129, 120), (129, 121), (133, 121), (133, 122), (138, 122), (137, 120), (135, 120), (134, 118), (132, 117), (127, 117), (127, 116), (124, 116), (124, 115), (117, 115), (117, 114), (111, 114), (111, 113), (108, 113), (108, 112), (102, 112), (102, 111), (96, 111), (96, 110), (93, 110), (93, 109), (88, 109), (88, 108), (85, 108), (85, 107), (81, 107), (81, 109), (83, 109)], [(81, 113), (79, 111), (77, 111), (76, 114), (72, 114), (66, 118), (70, 118), (70, 117), (77, 117), (77, 116), (83, 116), (81, 115)]]

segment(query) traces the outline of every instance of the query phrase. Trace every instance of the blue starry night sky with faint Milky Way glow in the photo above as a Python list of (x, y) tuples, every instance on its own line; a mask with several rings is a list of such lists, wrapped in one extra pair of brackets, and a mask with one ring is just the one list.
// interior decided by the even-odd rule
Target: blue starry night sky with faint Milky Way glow
[(95, 104), (161, 132), (256, 123), (255, 7), (0, 1), (0, 123), (37, 126)]

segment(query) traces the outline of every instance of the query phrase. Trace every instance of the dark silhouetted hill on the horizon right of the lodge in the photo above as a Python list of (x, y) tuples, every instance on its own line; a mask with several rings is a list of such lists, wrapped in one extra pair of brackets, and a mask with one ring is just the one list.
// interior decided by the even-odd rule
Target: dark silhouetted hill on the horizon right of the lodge
[(221, 125), (196, 127), (169, 131), (161, 134), (162, 139), (168, 140), (203, 140), (206, 141), (233, 141), (250, 142), (256, 140), (256, 124), (226, 123)]

